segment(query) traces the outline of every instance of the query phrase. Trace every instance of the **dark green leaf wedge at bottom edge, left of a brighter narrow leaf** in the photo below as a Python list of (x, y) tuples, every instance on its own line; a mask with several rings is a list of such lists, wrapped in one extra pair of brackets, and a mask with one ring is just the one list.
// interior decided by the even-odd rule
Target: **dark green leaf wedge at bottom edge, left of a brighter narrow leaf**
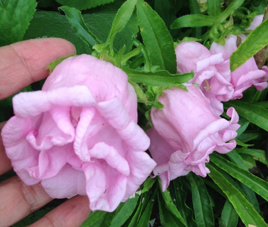
[(165, 205), (165, 201), (161, 194), (158, 194), (158, 207), (159, 207), (159, 218), (163, 227), (186, 227), (186, 225), (180, 221)]

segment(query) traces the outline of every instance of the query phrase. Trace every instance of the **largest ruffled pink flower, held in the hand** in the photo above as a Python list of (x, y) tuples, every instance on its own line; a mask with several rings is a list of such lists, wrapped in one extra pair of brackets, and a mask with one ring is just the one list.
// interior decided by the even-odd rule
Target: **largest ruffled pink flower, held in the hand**
[(113, 211), (156, 163), (137, 125), (137, 96), (111, 63), (82, 54), (59, 64), (42, 91), (13, 98), (2, 130), (6, 153), (27, 185), (53, 198), (88, 195), (91, 210)]

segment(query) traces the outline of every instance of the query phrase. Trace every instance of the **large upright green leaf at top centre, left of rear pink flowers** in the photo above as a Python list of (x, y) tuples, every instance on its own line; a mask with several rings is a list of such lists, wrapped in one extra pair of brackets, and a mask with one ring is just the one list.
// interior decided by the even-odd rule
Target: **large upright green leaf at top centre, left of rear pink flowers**
[(164, 21), (143, 0), (137, 2), (140, 34), (152, 65), (170, 73), (177, 72), (173, 39)]

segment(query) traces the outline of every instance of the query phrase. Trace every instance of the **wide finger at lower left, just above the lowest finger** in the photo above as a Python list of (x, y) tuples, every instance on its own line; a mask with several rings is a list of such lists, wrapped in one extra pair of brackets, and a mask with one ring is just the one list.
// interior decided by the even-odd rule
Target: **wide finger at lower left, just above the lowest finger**
[(13, 225), (52, 200), (42, 186), (25, 185), (17, 176), (0, 182), (0, 198), (0, 227)]

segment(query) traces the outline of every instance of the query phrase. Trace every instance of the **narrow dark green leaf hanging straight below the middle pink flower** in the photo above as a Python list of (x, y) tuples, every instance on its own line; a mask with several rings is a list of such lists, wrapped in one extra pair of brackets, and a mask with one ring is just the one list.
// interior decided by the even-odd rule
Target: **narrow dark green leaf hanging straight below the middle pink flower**
[(213, 210), (210, 196), (204, 182), (195, 173), (186, 175), (192, 186), (193, 208), (198, 227), (214, 227)]

